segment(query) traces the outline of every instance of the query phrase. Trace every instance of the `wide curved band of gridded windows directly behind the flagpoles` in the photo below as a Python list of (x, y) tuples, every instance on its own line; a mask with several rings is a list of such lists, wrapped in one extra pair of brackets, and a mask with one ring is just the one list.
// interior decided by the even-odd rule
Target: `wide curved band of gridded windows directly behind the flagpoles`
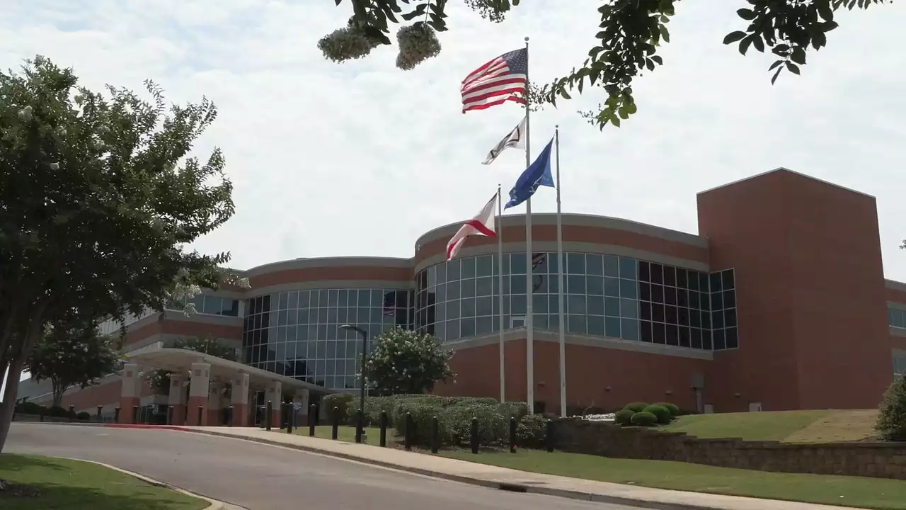
[[(504, 329), (525, 325), (527, 264), (525, 253), (503, 255)], [(531, 264), (535, 329), (556, 331), (557, 253), (535, 253)], [(497, 268), (496, 255), (482, 255), (420, 271), (415, 327), (446, 341), (498, 331)], [(733, 270), (709, 275), (615, 255), (567, 252), (565, 329), (688, 348), (736, 348), (734, 283)], [(720, 319), (713, 339), (712, 317)]]

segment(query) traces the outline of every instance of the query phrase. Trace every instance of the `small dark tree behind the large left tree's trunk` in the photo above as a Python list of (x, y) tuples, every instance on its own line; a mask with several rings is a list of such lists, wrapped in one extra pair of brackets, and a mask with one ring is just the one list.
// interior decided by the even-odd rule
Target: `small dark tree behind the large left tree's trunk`
[(61, 407), (66, 388), (92, 386), (95, 379), (111, 374), (117, 361), (112, 338), (101, 335), (91, 318), (53, 324), (24, 367), (36, 381), (51, 380), (53, 407)]

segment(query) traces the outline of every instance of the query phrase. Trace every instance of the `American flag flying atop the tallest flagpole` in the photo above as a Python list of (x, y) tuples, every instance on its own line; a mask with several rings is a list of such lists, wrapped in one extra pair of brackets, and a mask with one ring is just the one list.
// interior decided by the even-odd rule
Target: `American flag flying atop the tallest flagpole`
[(492, 59), (462, 81), (462, 113), (484, 110), (506, 101), (525, 104), (527, 74), (528, 50), (525, 48)]

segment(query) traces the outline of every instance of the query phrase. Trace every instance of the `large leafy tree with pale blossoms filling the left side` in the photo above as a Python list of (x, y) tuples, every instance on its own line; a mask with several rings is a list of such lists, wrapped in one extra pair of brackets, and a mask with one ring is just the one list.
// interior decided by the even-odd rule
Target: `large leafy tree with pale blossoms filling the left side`
[(0, 405), (3, 449), (19, 378), (49, 325), (80, 307), (98, 318), (162, 311), (180, 294), (222, 282), (228, 253), (186, 246), (227, 221), (232, 183), (215, 149), (188, 157), (217, 117), (207, 99), (172, 105), (78, 85), (37, 56), (0, 73)]

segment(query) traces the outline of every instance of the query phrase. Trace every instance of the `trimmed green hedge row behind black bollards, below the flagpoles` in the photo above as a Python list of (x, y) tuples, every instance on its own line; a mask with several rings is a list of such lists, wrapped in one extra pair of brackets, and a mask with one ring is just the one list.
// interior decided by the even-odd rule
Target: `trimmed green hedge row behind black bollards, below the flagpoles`
[[(355, 425), (359, 398), (349, 394), (324, 397), (323, 407), (328, 423), (332, 423), (334, 408), (339, 421)], [(544, 443), (545, 417), (528, 416), (525, 402), (497, 402), (494, 398), (439, 397), (435, 395), (394, 395), (365, 398), (365, 426), (377, 427), (381, 413), (386, 412), (388, 427), (398, 436), (406, 434), (406, 414), (412, 416), (412, 441), (429, 445), (431, 424), (438, 418), (439, 439), (443, 445), (462, 445), (469, 441), (472, 418), (478, 420), (478, 442), (482, 446), (503, 445), (509, 440), (509, 419), (517, 420), (516, 436), (519, 446), (537, 447)]]

